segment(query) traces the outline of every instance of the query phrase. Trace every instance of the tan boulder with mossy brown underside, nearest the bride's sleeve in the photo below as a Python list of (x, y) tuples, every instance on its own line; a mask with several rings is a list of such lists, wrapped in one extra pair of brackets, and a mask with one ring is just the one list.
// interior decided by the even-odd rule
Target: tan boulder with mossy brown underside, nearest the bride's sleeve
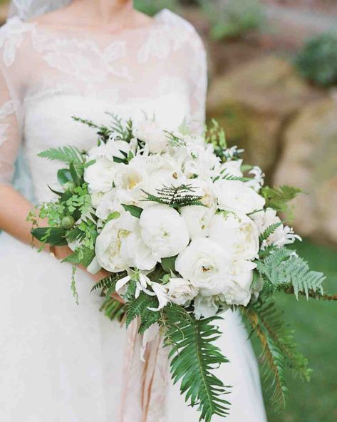
[(214, 78), (208, 116), (224, 126), (229, 143), (246, 150), (249, 163), (260, 165), (270, 176), (284, 125), (319, 95), (288, 61), (266, 56)]

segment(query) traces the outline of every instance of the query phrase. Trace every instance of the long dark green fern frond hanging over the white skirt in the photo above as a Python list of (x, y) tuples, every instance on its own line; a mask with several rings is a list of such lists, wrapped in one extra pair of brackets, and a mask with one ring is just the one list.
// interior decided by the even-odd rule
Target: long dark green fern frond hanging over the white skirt
[(198, 406), (200, 421), (206, 422), (214, 415), (228, 414), (229, 403), (223, 398), (227, 388), (213, 374), (214, 368), (227, 362), (214, 345), (221, 333), (212, 323), (219, 319), (196, 320), (183, 309), (170, 306), (162, 311), (166, 344), (171, 346), (172, 380), (175, 383), (181, 380), (180, 391), (185, 400)]

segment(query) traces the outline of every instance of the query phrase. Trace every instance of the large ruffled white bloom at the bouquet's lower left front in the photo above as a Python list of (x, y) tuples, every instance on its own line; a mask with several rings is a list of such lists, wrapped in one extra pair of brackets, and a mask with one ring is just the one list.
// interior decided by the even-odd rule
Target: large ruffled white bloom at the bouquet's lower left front
[(101, 267), (110, 272), (120, 272), (135, 267), (137, 260), (138, 269), (152, 269), (156, 259), (141, 237), (135, 237), (135, 233), (139, 232), (139, 220), (129, 212), (108, 222), (95, 244), (95, 254)]

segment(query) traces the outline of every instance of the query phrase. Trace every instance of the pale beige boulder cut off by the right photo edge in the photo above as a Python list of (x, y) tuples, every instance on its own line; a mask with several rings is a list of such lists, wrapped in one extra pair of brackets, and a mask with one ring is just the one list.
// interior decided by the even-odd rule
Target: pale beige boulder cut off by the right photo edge
[(337, 244), (337, 102), (307, 105), (284, 133), (274, 184), (301, 187), (294, 227), (306, 237)]

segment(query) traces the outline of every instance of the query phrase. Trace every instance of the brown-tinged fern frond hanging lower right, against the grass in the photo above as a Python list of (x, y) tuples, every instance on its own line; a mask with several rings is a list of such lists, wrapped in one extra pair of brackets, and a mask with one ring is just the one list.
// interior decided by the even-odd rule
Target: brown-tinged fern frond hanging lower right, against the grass
[(273, 388), (272, 403), (281, 410), (286, 405), (288, 395), (286, 368), (291, 369), (294, 376), (309, 381), (311, 370), (308, 369), (308, 361), (297, 351), (294, 333), (284, 326), (273, 300), (242, 308), (242, 315), (248, 321), (252, 334), (259, 339), (264, 379)]

